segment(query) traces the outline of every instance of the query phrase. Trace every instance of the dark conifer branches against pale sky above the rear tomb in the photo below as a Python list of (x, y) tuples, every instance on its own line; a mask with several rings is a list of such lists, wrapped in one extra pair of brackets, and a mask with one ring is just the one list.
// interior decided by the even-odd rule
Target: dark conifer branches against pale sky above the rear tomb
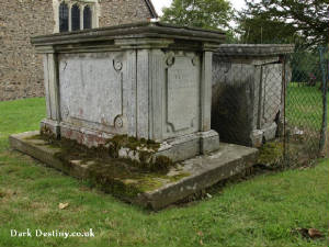
[[(260, 29), (273, 32), (264, 40), (277, 33), (280, 38), (294, 40), (294, 35), (303, 37), (307, 46), (328, 44), (329, 33), (329, 1), (328, 0), (245, 0), (247, 9), (241, 11), (240, 31), (250, 41), (261, 41)], [(285, 29), (282, 31), (281, 29)], [(248, 33), (253, 30), (254, 33)], [(279, 31), (279, 32), (277, 32)]]

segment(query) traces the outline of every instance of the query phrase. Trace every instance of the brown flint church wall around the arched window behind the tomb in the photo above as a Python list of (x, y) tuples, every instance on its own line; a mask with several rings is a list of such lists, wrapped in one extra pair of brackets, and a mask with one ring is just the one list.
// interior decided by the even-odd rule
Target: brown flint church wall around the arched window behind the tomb
[[(102, 0), (100, 26), (150, 18), (144, 0)], [(43, 65), (30, 44), (54, 31), (53, 0), (1, 0), (0, 101), (43, 97)]]

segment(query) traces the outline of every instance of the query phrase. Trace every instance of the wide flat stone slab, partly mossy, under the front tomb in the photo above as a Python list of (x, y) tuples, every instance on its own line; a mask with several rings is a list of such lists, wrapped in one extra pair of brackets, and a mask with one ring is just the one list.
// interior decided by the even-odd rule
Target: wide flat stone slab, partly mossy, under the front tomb
[[(75, 149), (39, 138), (38, 132), (10, 136), (13, 149), (80, 179), (98, 181), (98, 188), (124, 201), (160, 210), (227, 179), (256, 164), (258, 149), (220, 144), (217, 151), (178, 162), (168, 172), (140, 172), (129, 164), (111, 158), (81, 157)], [(69, 151), (69, 156), (61, 153)], [(63, 157), (63, 158), (59, 158)], [(120, 172), (117, 172), (120, 170)]]

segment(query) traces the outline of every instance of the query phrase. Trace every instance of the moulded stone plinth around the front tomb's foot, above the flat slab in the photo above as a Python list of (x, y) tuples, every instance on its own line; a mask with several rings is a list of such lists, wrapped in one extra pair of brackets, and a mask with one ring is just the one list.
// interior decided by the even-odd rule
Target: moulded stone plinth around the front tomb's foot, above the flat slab
[[(88, 147), (98, 147), (99, 145), (105, 144), (107, 139), (114, 137), (114, 135), (110, 133), (78, 127), (67, 123), (57, 123), (52, 120), (42, 121), (41, 128), (45, 130), (45, 127), (58, 138), (65, 137), (68, 139), (75, 139), (79, 144)], [(217, 132), (197, 132), (166, 139), (160, 143), (160, 148), (155, 153), (155, 156), (167, 156), (175, 162), (192, 158), (196, 155), (205, 155), (218, 150), (218, 148), (219, 135)], [(129, 157), (138, 159), (133, 157), (136, 156), (135, 150), (132, 150), (131, 153), (132, 154), (128, 155)], [(123, 154), (126, 154), (126, 150), (124, 150)], [(126, 157), (126, 155), (124, 157)]]

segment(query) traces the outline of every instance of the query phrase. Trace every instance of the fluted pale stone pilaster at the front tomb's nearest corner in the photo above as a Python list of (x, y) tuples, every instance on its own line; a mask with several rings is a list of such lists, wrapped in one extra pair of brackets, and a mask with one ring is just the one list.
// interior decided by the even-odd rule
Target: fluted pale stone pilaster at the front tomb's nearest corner
[(128, 120), (132, 123), (131, 136), (162, 141), (164, 60), (161, 48), (167, 48), (171, 43), (173, 41), (167, 38), (140, 38), (137, 44), (136, 40), (115, 41), (127, 54), (134, 53), (134, 56), (127, 57), (128, 64), (135, 63), (134, 69), (127, 74), (131, 75), (132, 91), (136, 93), (129, 96), (131, 102), (134, 102), (129, 105), (133, 117)]

